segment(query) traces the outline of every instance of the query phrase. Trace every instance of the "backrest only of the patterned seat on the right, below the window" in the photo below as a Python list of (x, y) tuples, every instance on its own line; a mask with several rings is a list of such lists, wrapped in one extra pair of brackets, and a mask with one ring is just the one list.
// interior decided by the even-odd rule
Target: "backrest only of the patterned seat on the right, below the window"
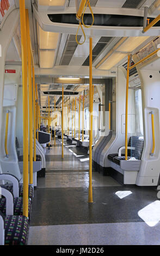
[(141, 159), (144, 147), (144, 137), (131, 136), (128, 142), (128, 147), (134, 147), (135, 150), (128, 149), (128, 156), (135, 157), (137, 160)]

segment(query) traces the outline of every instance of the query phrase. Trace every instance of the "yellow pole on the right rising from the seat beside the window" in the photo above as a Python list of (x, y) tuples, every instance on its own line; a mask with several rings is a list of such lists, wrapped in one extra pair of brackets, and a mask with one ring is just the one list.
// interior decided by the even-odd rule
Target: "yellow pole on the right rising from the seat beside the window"
[(125, 160), (127, 160), (127, 135), (128, 135), (128, 86), (129, 86), (129, 75), (130, 75), (130, 55), (128, 55), (127, 63), (127, 81), (126, 81), (126, 117), (125, 117)]

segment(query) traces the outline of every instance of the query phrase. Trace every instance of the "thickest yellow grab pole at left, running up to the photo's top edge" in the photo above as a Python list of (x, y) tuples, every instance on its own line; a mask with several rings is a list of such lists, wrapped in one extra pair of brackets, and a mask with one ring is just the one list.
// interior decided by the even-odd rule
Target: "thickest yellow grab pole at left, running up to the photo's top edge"
[(23, 92), (23, 215), (28, 217), (28, 85), (25, 0), (20, 0)]

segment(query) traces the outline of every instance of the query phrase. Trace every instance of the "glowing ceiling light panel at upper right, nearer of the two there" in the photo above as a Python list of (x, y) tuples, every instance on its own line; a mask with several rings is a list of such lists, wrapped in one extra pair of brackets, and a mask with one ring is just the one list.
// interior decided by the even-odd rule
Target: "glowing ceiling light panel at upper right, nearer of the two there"
[(118, 51), (132, 52), (148, 38), (149, 36), (131, 36), (124, 42), (124, 44), (118, 47)]

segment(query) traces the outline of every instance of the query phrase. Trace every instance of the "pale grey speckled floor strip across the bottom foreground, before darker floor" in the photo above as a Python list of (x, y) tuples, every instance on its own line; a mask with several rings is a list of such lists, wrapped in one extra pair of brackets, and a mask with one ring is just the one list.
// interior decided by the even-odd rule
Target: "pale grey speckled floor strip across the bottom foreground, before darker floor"
[(30, 227), (29, 245), (160, 245), (160, 223), (144, 222)]

